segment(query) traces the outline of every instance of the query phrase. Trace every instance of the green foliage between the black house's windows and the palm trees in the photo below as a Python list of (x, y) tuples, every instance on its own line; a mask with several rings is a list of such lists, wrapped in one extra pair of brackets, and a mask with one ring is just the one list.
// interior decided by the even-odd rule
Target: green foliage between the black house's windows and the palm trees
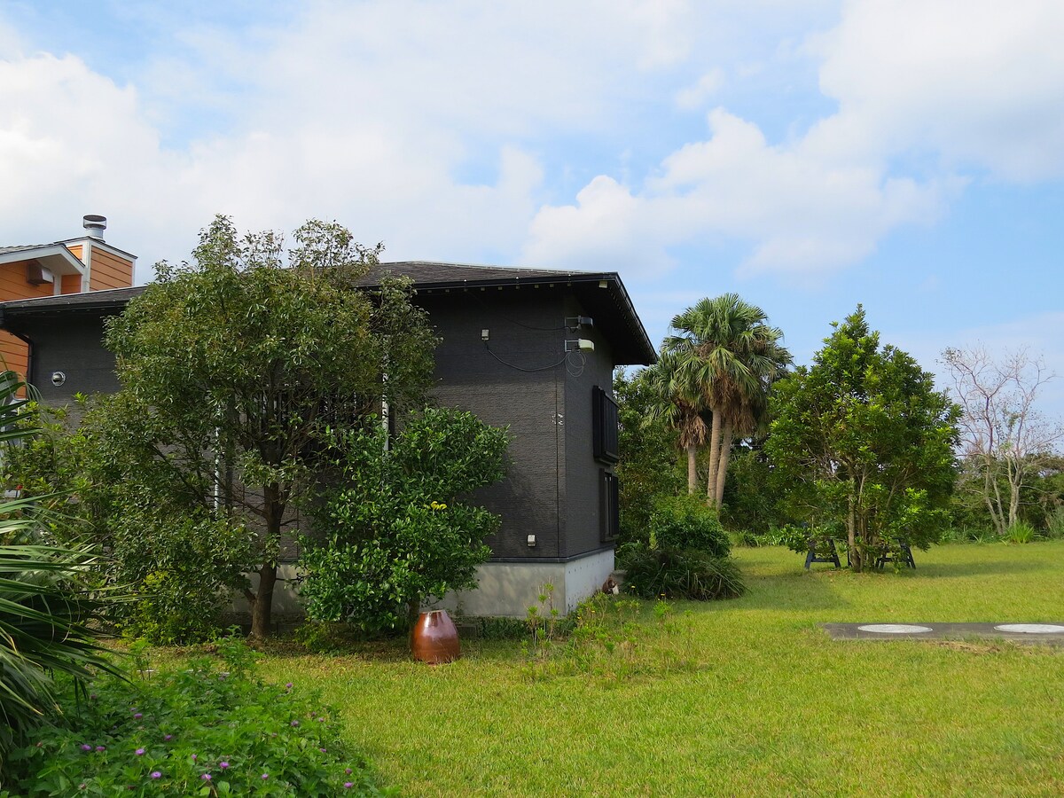
[(620, 462), (620, 539), (646, 538), (654, 501), (683, 491), (678, 469), (677, 431), (652, 411), (658, 401), (646, 369), (629, 377), (618, 369), (613, 379), (617, 401)]

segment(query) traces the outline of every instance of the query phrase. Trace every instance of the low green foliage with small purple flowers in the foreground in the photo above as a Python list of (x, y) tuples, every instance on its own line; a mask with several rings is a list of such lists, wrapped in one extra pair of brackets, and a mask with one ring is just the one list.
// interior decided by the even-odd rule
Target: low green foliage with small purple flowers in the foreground
[(380, 794), (317, 694), (256, 679), (240, 642), (218, 648), (225, 670), (199, 656), (64, 694), (63, 718), (12, 755), (18, 794)]

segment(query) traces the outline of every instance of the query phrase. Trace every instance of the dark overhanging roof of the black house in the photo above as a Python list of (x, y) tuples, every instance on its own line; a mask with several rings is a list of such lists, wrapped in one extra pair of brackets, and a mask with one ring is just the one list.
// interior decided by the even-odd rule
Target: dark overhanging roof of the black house
[[(635, 313), (628, 292), (620, 277), (613, 271), (562, 271), (402, 261), (377, 265), (358, 280), (356, 285), (372, 288), (380, 285), (386, 276), (410, 278), (414, 282), (416, 294), (426, 296), (479, 288), (567, 287), (576, 294), (586, 313), (595, 319), (595, 325), (610, 339), (618, 363), (650, 364), (656, 360), (654, 348)], [(20, 327), (20, 319), (28, 321), (61, 313), (120, 313), (127, 302), (143, 294), (145, 288), (146, 286), (140, 285), (0, 302), (0, 327)]]

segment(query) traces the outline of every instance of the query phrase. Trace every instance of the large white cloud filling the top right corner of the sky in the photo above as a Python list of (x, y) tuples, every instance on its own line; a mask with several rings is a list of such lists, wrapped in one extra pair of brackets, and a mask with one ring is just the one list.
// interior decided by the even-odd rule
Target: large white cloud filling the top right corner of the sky
[(851, 0), (810, 41), (839, 111), (809, 146), (865, 161), (921, 150), (1010, 181), (1060, 177), (1062, 39), (1059, 0)]

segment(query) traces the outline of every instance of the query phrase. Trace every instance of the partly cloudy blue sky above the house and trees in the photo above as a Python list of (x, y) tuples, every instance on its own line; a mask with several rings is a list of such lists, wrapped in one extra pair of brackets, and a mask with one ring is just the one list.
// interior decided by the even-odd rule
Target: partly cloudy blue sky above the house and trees
[(809, 363), (1062, 379), (1060, 0), (0, 0), (0, 246), (180, 262), (215, 214), (384, 260), (617, 271), (656, 345), (736, 292)]

